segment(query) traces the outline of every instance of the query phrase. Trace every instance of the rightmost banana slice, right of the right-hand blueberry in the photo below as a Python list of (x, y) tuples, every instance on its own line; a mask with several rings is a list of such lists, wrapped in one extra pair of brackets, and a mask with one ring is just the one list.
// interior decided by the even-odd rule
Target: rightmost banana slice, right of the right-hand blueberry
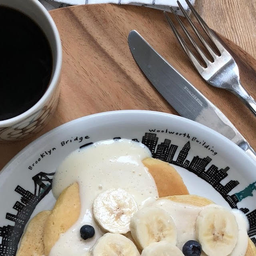
[(196, 218), (196, 236), (208, 256), (227, 256), (238, 241), (238, 224), (232, 212), (208, 206)]

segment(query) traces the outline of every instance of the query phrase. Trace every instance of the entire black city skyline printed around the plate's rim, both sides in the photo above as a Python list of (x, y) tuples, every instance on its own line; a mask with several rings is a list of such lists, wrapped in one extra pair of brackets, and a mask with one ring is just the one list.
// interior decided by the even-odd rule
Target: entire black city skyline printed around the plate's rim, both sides
[[(116, 137), (114, 139), (120, 139)], [(138, 139), (133, 139), (134, 141), (139, 141)], [(237, 203), (242, 201), (248, 196), (253, 196), (253, 190), (256, 190), (256, 182), (250, 184), (244, 190), (228, 195), (228, 193), (235, 188), (239, 182), (237, 180), (230, 180), (226, 185), (222, 185), (220, 182), (228, 176), (229, 167), (218, 169), (215, 165), (210, 165), (206, 170), (206, 166), (210, 164), (212, 158), (206, 156), (200, 158), (199, 156), (194, 156), (192, 161), (187, 160), (188, 152), (190, 151), (190, 142), (186, 142), (183, 148), (178, 152), (178, 146), (171, 144), (171, 140), (165, 139), (164, 142), (158, 144), (158, 137), (154, 133), (146, 132), (142, 137), (142, 143), (146, 145), (152, 153), (154, 158), (160, 159), (165, 162), (169, 162), (176, 166), (181, 166), (186, 170), (196, 174), (198, 177), (202, 178), (208, 182), (221, 196), (228, 202), (232, 208), (237, 208)], [(80, 148), (88, 146), (92, 142), (87, 143)], [(176, 154), (177, 153), (177, 154)], [(176, 160), (174, 160), (174, 156)], [(21, 202), (16, 202), (13, 206), (17, 210), (17, 214), (6, 214), (6, 219), (13, 221), (14, 226), (8, 225), (0, 227), (0, 237), (2, 237), (2, 242), (0, 243), (0, 256), (15, 256), (17, 251), (17, 246), (26, 226), (26, 223), (30, 219), (36, 205), (50, 192), (52, 189), (52, 177), (53, 173), (40, 172), (32, 180), (34, 181), (34, 194), (24, 188), (17, 186), (15, 191), (18, 192), (21, 197)], [(250, 229), (248, 235), (256, 235), (256, 209), (250, 210), (248, 208), (240, 208), (242, 210), (250, 223)], [(256, 238), (251, 238), (252, 242), (256, 245)]]

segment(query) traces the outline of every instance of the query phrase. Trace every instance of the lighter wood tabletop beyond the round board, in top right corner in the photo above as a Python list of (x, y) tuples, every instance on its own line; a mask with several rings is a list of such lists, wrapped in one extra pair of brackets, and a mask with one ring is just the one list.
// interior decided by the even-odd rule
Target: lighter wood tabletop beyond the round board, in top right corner
[(256, 0), (196, 0), (210, 28), (256, 58)]

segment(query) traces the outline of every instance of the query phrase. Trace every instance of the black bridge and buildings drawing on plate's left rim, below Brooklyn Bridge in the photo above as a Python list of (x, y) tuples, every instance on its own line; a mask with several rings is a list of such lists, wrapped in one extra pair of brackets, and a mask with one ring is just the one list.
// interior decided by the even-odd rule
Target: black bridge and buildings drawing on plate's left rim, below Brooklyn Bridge
[(23, 230), (33, 213), (36, 205), (52, 189), (52, 177), (54, 173), (40, 172), (32, 178), (34, 181), (34, 193), (17, 186), (15, 191), (21, 195), (20, 202), (17, 201), (13, 209), (17, 214), (6, 214), (6, 219), (14, 222), (14, 226), (7, 225), (0, 227), (0, 256), (15, 256), (17, 246), (22, 236)]

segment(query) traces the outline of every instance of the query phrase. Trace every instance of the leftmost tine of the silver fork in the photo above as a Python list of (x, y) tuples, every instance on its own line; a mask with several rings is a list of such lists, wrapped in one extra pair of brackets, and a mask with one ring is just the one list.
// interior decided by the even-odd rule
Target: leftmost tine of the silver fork
[(165, 15), (165, 17), (166, 17), (170, 27), (172, 28), (172, 31), (174, 32), (176, 38), (178, 39), (178, 41), (180, 42), (182, 48), (184, 49), (184, 51), (188, 55), (188, 58), (190, 58), (192, 64), (196, 68), (196, 70), (198, 72), (202, 73), (205, 70), (205, 68), (202, 67), (202, 65), (200, 64), (200, 62), (196, 58), (196, 56), (194, 56), (193, 52), (191, 52), (191, 50), (188, 48), (186, 42), (183, 40), (183, 38), (180, 36), (179, 32), (176, 30), (172, 20), (169, 18), (169, 16), (166, 14), (166, 12), (164, 12), (164, 15)]

